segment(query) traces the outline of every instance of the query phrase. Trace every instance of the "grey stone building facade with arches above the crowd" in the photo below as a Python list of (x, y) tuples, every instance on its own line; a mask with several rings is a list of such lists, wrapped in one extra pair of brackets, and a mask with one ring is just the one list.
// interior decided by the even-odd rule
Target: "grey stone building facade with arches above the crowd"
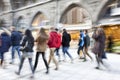
[[(79, 11), (83, 15), (76, 20), (74, 9), (72, 22), (81, 22), (85, 18), (95, 24), (105, 14), (107, 6), (113, 2), (115, 0), (0, 0), (0, 20), (4, 20), (5, 26), (15, 25), (18, 27), (39, 25), (39, 21), (42, 20), (49, 20), (51, 25), (66, 24), (70, 22), (68, 20), (71, 18), (71, 13), (68, 12), (76, 8), (76, 13)], [(81, 9), (82, 11), (80, 11)], [(70, 17), (66, 17), (66, 14)], [(37, 17), (39, 18), (36, 19)], [(38, 23), (35, 23), (37, 21)]]

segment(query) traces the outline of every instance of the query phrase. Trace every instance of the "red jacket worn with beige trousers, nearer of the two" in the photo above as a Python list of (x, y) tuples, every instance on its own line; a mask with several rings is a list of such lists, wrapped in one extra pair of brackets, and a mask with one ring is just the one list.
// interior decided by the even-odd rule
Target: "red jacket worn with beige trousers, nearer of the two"
[(57, 48), (58, 45), (58, 34), (55, 31), (50, 32), (50, 37), (48, 40), (49, 48)]

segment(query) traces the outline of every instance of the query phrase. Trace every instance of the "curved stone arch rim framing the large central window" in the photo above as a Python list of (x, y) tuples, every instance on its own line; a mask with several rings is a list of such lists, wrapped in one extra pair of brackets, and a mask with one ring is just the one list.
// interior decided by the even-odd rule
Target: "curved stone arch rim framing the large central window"
[[(75, 8), (75, 7), (84, 9), (86, 11), (87, 15), (89, 15), (89, 18), (91, 19), (90, 13), (85, 8), (85, 6), (82, 6), (82, 5), (78, 4), (78, 3), (71, 3), (68, 6), (66, 6), (66, 8), (63, 10), (63, 12), (62, 12), (62, 14), (60, 16), (59, 22), (62, 23), (62, 21), (64, 20), (65, 15), (67, 14), (67, 12), (70, 11), (71, 9)], [(84, 16), (86, 16), (86, 14), (84, 14)]]

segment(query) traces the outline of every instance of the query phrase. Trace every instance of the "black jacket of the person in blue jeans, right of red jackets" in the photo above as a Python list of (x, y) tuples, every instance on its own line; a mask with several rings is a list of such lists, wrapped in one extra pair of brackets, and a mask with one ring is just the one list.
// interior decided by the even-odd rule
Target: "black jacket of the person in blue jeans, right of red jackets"
[(62, 36), (62, 46), (63, 47), (69, 47), (70, 46), (70, 41), (71, 41), (71, 36), (67, 32), (63, 32)]

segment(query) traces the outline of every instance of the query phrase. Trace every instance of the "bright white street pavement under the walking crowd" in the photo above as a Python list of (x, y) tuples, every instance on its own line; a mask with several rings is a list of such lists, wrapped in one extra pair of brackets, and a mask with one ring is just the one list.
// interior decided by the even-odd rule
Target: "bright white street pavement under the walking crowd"
[[(5, 69), (0, 67), (0, 80), (119, 80), (120, 79), (120, 55), (115, 53), (107, 53), (106, 65), (108, 68), (101, 66), (100, 70), (95, 69), (96, 62), (95, 56), (89, 51), (93, 57), (91, 61), (87, 57), (87, 61), (83, 62), (79, 59), (77, 55), (77, 49), (69, 49), (69, 52), (74, 58), (73, 63), (71, 63), (68, 56), (66, 56), (66, 61), (59, 62), (59, 69), (54, 70), (55, 65), (50, 64), (49, 74), (45, 74), (46, 68), (42, 60), (42, 56), (39, 58), (39, 63), (36, 69), (34, 78), (30, 78), (31, 70), (26, 59), (23, 68), (21, 70), (21, 75), (16, 75), (15, 71), (18, 70), (19, 59), (16, 54), (16, 59), (14, 64), (9, 64), (10, 62), (10, 52), (5, 54)], [(46, 51), (46, 58), (48, 60), (49, 50)], [(62, 51), (60, 50), (61, 60)], [(34, 53), (35, 55), (35, 53)], [(34, 57), (35, 58), (35, 57)], [(57, 59), (57, 56), (56, 56)], [(34, 59), (33, 59), (34, 63)]]

